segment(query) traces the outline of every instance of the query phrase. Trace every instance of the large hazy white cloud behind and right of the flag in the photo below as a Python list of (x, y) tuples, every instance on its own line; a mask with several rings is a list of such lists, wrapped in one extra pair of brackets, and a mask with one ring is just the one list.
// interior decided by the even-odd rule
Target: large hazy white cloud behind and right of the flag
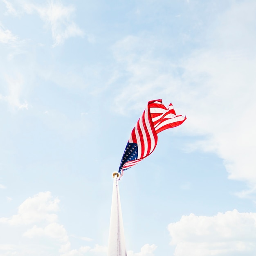
[(180, 130), (205, 137), (190, 148), (216, 153), (230, 179), (247, 182), (247, 192), (256, 187), (255, 12), (255, 1), (233, 2), (213, 20), (204, 47), (177, 63), (155, 58), (161, 42), (145, 34), (128, 36), (113, 48), (126, 77), (115, 109), (141, 112), (148, 100), (171, 101), (187, 116)]

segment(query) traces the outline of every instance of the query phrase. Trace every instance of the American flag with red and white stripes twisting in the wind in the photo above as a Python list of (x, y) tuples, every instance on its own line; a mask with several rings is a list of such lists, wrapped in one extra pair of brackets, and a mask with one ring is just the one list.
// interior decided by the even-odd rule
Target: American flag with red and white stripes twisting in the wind
[(162, 99), (149, 101), (147, 108), (137, 121), (121, 159), (120, 176), (123, 172), (150, 155), (157, 145), (157, 133), (165, 129), (179, 126), (186, 117), (176, 115), (173, 104), (168, 108)]

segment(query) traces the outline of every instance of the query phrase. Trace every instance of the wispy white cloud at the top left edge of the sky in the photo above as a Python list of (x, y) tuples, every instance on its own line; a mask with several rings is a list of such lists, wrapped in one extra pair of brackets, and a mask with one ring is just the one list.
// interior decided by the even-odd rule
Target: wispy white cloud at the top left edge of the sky
[(75, 11), (73, 6), (64, 6), (61, 1), (50, 0), (46, 6), (25, 1), (23, 8), (29, 14), (34, 11), (39, 14), (46, 27), (52, 31), (54, 46), (63, 44), (67, 38), (84, 34), (72, 20)]

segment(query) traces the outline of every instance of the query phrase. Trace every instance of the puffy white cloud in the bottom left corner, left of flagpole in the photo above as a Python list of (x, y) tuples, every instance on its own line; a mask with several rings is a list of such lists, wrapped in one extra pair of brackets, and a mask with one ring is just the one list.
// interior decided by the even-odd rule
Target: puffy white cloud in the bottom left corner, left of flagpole
[[(15, 237), (18, 237), (17, 243), (14, 243), (13, 239), (12, 245), (0, 244), (0, 250), (5, 252), (3, 256), (32, 256), (35, 255), (35, 252), (40, 252), (38, 255), (47, 255), (49, 244), (51, 248), (55, 247), (58, 250), (58, 255), (61, 256), (83, 256), (87, 252), (95, 255), (106, 254), (107, 247), (98, 244), (94, 247), (80, 246), (79, 249), (72, 249), (67, 230), (64, 225), (57, 222), (58, 216), (55, 212), (59, 210), (59, 202), (59, 199), (54, 198), (49, 191), (40, 192), (22, 202), (18, 207), (18, 214), (10, 218), (0, 218), (0, 225), (3, 223), (12, 225)], [(77, 238), (76, 236), (72, 237)], [(79, 239), (92, 240), (86, 237), (79, 237)], [(22, 241), (22, 245), (20, 241)], [(33, 248), (38, 249), (31, 249), (31, 243), (33, 243)], [(81, 244), (83, 245), (84, 242)]]

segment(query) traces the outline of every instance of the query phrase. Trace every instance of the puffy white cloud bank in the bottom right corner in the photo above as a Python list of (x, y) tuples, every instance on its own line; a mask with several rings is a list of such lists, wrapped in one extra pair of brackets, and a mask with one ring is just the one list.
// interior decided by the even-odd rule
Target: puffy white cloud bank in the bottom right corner
[(182, 216), (168, 225), (174, 256), (251, 256), (256, 254), (256, 213), (237, 210), (216, 216)]

